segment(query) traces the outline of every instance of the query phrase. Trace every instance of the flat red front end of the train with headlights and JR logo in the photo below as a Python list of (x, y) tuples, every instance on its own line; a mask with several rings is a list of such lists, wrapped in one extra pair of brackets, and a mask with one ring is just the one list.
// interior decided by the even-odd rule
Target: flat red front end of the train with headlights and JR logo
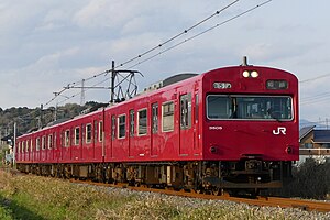
[(257, 193), (279, 188), (299, 157), (298, 80), (257, 66), (202, 77), (202, 188)]

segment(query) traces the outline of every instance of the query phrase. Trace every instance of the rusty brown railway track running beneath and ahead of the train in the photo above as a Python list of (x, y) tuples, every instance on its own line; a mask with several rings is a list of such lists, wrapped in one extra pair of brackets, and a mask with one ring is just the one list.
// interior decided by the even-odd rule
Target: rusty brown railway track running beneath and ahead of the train
[(215, 195), (206, 195), (198, 194), (195, 191), (185, 191), (185, 190), (169, 190), (169, 189), (158, 189), (158, 188), (148, 188), (148, 187), (134, 187), (129, 186), (127, 184), (102, 184), (102, 183), (94, 183), (94, 182), (82, 182), (82, 180), (74, 180), (73, 183), (81, 183), (81, 184), (90, 184), (97, 186), (105, 187), (119, 187), (119, 188), (128, 188), (136, 191), (153, 191), (158, 194), (172, 195), (172, 196), (182, 196), (189, 198), (199, 198), (199, 199), (215, 199), (215, 200), (230, 200), (235, 202), (244, 202), (254, 206), (270, 206), (270, 207), (280, 207), (280, 208), (297, 208), (306, 211), (319, 211), (319, 212), (330, 212), (330, 202), (326, 201), (315, 201), (315, 200), (305, 200), (305, 199), (293, 199), (293, 198), (280, 198), (280, 197), (264, 197), (258, 196), (256, 198), (241, 198), (241, 197), (231, 197), (229, 195), (215, 196)]

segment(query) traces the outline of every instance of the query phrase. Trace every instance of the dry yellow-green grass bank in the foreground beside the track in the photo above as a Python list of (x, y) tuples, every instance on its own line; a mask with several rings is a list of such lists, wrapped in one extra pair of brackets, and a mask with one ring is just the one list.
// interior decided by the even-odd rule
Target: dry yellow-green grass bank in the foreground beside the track
[[(0, 219), (288, 219), (284, 211), (245, 205), (96, 188), (40, 176), (0, 172)], [(185, 206), (184, 206), (185, 204)], [(234, 207), (234, 208), (233, 208)]]

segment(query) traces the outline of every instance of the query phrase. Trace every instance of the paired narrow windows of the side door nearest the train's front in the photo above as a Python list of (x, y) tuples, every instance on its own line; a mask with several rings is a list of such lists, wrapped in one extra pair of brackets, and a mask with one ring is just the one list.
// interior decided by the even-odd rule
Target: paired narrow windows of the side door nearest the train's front
[(191, 128), (191, 95), (183, 95), (180, 97), (180, 128)]

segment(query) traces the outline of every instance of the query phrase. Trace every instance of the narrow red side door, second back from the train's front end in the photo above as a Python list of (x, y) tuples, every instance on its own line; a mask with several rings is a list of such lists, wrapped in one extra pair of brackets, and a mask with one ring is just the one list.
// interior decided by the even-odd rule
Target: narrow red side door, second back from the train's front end
[(158, 103), (152, 105), (152, 132), (151, 132), (151, 156), (158, 155)]

